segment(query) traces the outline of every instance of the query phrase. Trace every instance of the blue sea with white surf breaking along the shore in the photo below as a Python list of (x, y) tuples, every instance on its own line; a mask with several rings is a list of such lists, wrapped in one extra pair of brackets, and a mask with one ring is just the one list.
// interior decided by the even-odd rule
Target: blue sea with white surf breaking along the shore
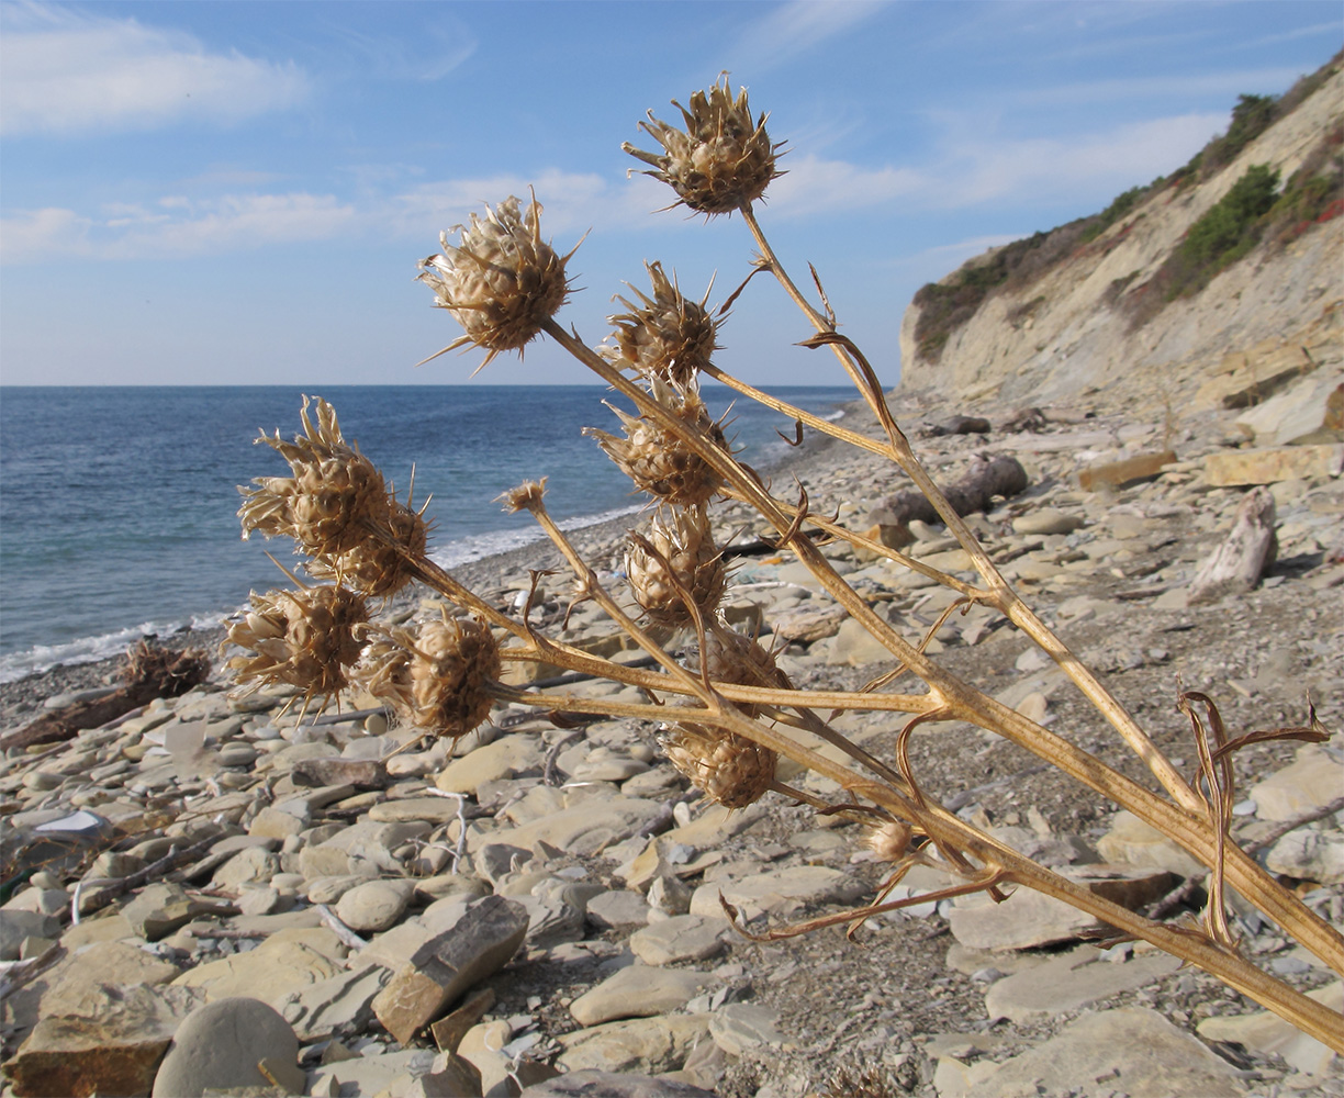
[[(851, 388), (771, 392), (831, 418)], [(347, 439), (405, 500), (429, 499), (430, 555), (452, 568), (538, 539), (496, 497), (546, 476), (574, 528), (642, 499), (597, 442), (620, 434), (602, 386), (328, 386)], [(722, 386), (703, 395), (742, 460), (769, 468), (793, 423)], [(622, 402), (616, 398), (613, 403)], [(286, 476), (261, 431), (301, 431), (302, 392), (257, 387), (0, 387), (0, 683), (223, 622), (250, 590), (289, 583), (289, 543), (243, 542), (238, 485)]]

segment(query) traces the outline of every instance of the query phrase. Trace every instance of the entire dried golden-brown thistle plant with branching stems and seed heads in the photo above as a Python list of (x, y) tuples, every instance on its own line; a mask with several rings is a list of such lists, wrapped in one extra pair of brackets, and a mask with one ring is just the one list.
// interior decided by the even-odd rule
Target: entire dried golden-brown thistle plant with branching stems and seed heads
[[(1191, 778), (1183, 775), (999, 573), (915, 458), (867, 359), (851, 340), (836, 332), (835, 314), (820, 282), (816, 285), (818, 308), (789, 277), (753, 206), (778, 175), (774, 167), (778, 146), (770, 144), (765, 133), (765, 117), (753, 121), (746, 93), (734, 99), (726, 81), (708, 93), (696, 93), (689, 102), (691, 109), (683, 110), (684, 130), (652, 116), (650, 122), (641, 124), (657, 138), (664, 153), (641, 152), (629, 145), (626, 151), (653, 165), (656, 171), (649, 175), (672, 185), (679, 203), (704, 214), (742, 215), (758, 253), (757, 270), (775, 278), (814, 329), (804, 345), (828, 347), (835, 353), (878, 418), (883, 437), (868, 438), (810, 415), (716, 367), (710, 360), (714, 328), (711, 323), (706, 331), (703, 302), (696, 306), (702, 312), (681, 302), (675, 284), (661, 274), (657, 265), (649, 266), (653, 297), (640, 294), (641, 305), (624, 302), (632, 312), (613, 317), (616, 331), (602, 344), (601, 352), (589, 347), (554, 319), (564, 298), (567, 284), (563, 267), (570, 257), (558, 259), (548, 246), (540, 243), (535, 203), (523, 216), (517, 211), (517, 200), (507, 199), (485, 222), (473, 218), (472, 227), (464, 230), (460, 247), (450, 247), (445, 239), (445, 257), (426, 261), (422, 278), (435, 290), (435, 304), (448, 308), (464, 327), (464, 335), (445, 349), (474, 344), (487, 351), (489, 362), (500, 351), (521, 349), (531, 339), (546, 335), (636, 407), (637, 417), (620, 413), (625, 438), (589, 431), (636, 487), (650, 496), (657, 509), (657, 524), (632, 543), (633, 607), (630, 601), (622, 601), (618, 593), (598, 581), (594, 570), (550, 517), (544, 481), (519, 487), (507, 493), (505, 503), (534, 516), (573, 570), (579, 594), (601, 606), (612, 622), (652, 657), (655, 667), (636, 668), (605, 660), (567, 644), (563, 633), (544, 633), (530, 620), (531, 603), (520, 616), (504, 613), (434, 566), (418, 540), (399, 538), (390, 523), (366, 516), (356, 523), (363, 534), (362, 539), (356, 539), (358, 546), (347, 543), (344, 535), (328, 534), (327, 527), (321, 527), (323, 534), (309, 536), (305, 548), (310, 552), (321, 548), (327, 554), (323, 559), (333, 568), (337, 567), (337, 558), (332, 554), (339, 556), (356, 547), (368, 551), (390, 548), (406, 563), (410, 574), (456, 607), (454, 617), (422, 626), (417, 634), (367, 628), (363, 632), (364, 650), (353, 660), (344, 644), (331, 638), (317, 644), (317, 637), (328, 636), (320, 630), (305, 634), (306, 641), (300, 641), (297, 633), (292, 640), (289, 603), (278, 595), (266, 597), (231, 633), (235, 642), (257, 653), (235, 657), (235, 668), (243, 677), (297, 679), (297, 684), (308, 684), (305, 688), (316, 693), (319, 687), (327, 688), (349, 677), (344, 668), (353, 664), (352, 675), (359, 684), (390, 699), (409, 723), (444, 735), (460, 735), (484, 720), (491, 699), (530, 704), (558, 715), (595, 711), (665, 722), (663, 742), (669, 758), (712, 800), (741, 808), (775, 790), (812, 805), (818, 813), (862, 824), (868, 849), (890, 865), (887, 880), (870, 904), (796, 926), (773, 927), (763, 934), (739, 927), (749, 937), (770, 939), (837, 923), (848, 923), (852, 930), (878, 913), (913, 903), (970, 892), (985, 892), (997, 900), (1004, 898), (1007, 888), (1027, 887), (1064, 900), (1122, 934), (1146, 939), (1199, 965), (1304, 1032), (1344, 1052), (1344, 1025), (1339, 1016), (1243, 958), (1222, 907), (1224, 890), (1236, 890), (1329, 968), (1344, 974), (1344, 938), (1340, 933), (1278, 884), (1228, 835), (1234, 753), (1249, 742), (1265, 738), (1318, 742), (1328, 732), (1314, 719), (1314, 712), (1309, 726), (1302, 728), (1228, 738), (1211, 699), (1183, 695), (1181, 707), (1189, 716), (1200, 758), (1198, 773)], [(496, 266), (504, 273), (496, 271)], [(628, 375), (633, 375), (634, 380)], [(731, 453), (722, 427), (708, 419), (698, 391), (700, 376), (722, 382), (797, 423), (890, 460), (937, 511), (949, 534), (970, 558), (977, 581), (949, 575), (927, 562), (813, 513), (806, 495), (796, 503), (773, 495)], [(304, 422), (309, 426), (306, 415)], [(348, 456), (344, 461), (309, 460), (306, 456), (308, 449), (316, 456), (323, 446), (336, 453), (337, 441), (332, 437), (335, 414), (329, 422), (331, 429), (319, 430), (316, 437), (309, 426), (309, 444), (296, 442), (302, 450), (297, 454), (302, 458), (300, 465), (293, 466), (292, 460), (294, 484), (302, 480), (304, 493), (317, 501), (325, 501), (328, 491), (344, 500), (352, 492), (355, 480), (349, 473), (352, 460)], [(280, 445), (277, 449), (290, 458), (290, 453)], [(353, 464), (363, 469), (363, 465)], [(309, 470), (319, 476), (328, 469), (333, 477), (329, 487), (308, 482)], [(364, 477), (362, 484), (375, 482), (372, 474), (360, 476)], [(308, 536), (300, 509), (292, 504), (297, 487), (288, 487), (288, 481), (258, 484), (245, 505), (245, 528), (250, 524), (266, 532)], [(355, 496), (375, 499), (371, 492), (363, 496), (355, 492)], [(716, 499), (746, 504), (771, 525), (780, 550), (792, 552), (806, 564), (821, 587), (887, 649), (891, 669), (863, 691), (802, 689), (780, 672), (771, 654), (754, 637), (732, 630), (718, 610), (726, 581), (707, 532), (710, 508)], [(317, 517), (313, 521), (321, 525), (329, 517), (325, 503), (314, 504), (314, 511)], [(308, 512), (304, 511), (304, 515)], [(1150, 792), (941, 667), (926, 649), (946, 614), (922, 636), (907, 636), (879, 616), (836, 573), (809, 536), (816, 532), (862, 547), (956, 591), (958, 598), (949, 614), (957, 607), (978, 605), (1012, 622), (1058, 664), (1148, 767), (1163, 793)], [(348, 567), (341, 573), (343, 577), (353, 574), (355, 570)], [(659, 628), (646, 628), (641, 620)], [(679, 657), (673, 645), (659, 640), (665, 638), (669, 624), (677, 628), (675, 640), (691, 656)], [(333, 664), (325, 672), (314, 667), (324, 659)], [(591, 693), (507, 687), (500, 683), (500, 675), (511, 663), (544, 663), (601, 676), (637, 687), (653, 702), (644, 704)], [(911, 692), (891, 689), (900, 675), (915, 676), (921, 688)], [(839, 731), (831, 720), (841, 712), (890, 714), (892, 728), (899, 727), (892, 757), (876, 758)], [(827, 719), (821, 714), (832, 716)], [(1129, 911), (1013, 851), (938, 804), (919, 784), (910, 762), (909, 741), (919, 726), (954, 722), (970, 723), (1036, 754), (1163, 832), (1208, 867), (1211, 902), (1202, 923), (1177, 926)], [(839, 749), (841, 759), (837, 761), (836, 753), (823, 753), (821, 745)], [(782, 784), (775, 769), (780, 758), (792, 759), (829, 778), (841, 793), (825, 798)], [(896, 883), (915, 864), (937, 865), (956, 883), (911, 899), (888, 899)], [(737, 913), (727, 904), (724, 907), (735, 918)]]

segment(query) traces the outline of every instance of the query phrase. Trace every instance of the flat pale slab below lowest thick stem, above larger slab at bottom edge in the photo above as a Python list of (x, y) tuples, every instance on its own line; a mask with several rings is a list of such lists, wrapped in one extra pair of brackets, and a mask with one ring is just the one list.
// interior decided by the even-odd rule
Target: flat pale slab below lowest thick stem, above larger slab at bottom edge
[(996, 981), (985, 993), (985, 1009), (991, 1019), (1035, 1021), (1064, 1011), (1077, 1011), (1120, 992), (1142, 988), (1179, 968), (1180, 961), (1165, 953), (1116, 964), (1098, 961), (1091, 946), (1082, 946)]

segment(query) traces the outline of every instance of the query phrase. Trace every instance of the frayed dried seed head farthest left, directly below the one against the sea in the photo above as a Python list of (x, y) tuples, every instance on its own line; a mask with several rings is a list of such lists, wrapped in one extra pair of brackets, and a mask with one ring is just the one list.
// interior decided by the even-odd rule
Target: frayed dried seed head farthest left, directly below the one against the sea
[(239, 684), (288, 683), (309, 699), (335, 695), (359, 660), (356, 626), (367, 620), (364, 597), (345, 587), (254, 591), (251, 610), (228, 626), (224, 641), (254, 654), (234, 656), (228, 667)]

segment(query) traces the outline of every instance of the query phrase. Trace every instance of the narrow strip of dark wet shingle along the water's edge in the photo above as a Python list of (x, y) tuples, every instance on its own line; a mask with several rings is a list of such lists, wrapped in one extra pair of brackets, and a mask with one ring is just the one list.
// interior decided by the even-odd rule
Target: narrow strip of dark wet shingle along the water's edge
[[(888, 394), (888, 403), (896, 403), (899, 398)], [(862, 400), (843, 400), (836, 403), (836, 409), (844, 410), (844, 419), (848, 425), (859, 422), (867, 409)], [(894, 409), (895, 410), (895, 409)], [(872, 417), (868, 417), (871, 421)], [(875, 422), (875, 421), (874, 421)], [(817, 431), (808, 431), (802, 444), (784, 453), (781, 458), (758, 472), (762, 476), (780, 476), (781, 473), (800, 472), (802, 465), (814, 462), (827, 450), (836, 445), (836, 439)], [(634, 496), (632, 495), (632, 501)], [(620, 544), (625, 535), (646, 515), (646, 509), (640, 509), (626, 515), (575, 527), (567, 531), (577, 544), (585, 547), (586, 555), (593, 552), (610, 552)], [(489, 597), (496, 589), (503, 587), (503, 579), (509, 574), (526, 571), (530, 567), (551, 568), (563, 564), (559, 552), (544, 536), (523, 546), (515, 546), (478, 560), (470, 560), (453, 567), (452, 574), (472, 590)], [(413, 586), (396, 595), (383, 610), (396, 613), (414, 606), (423, 594), (423, 589)], [(246, 605), (246, 603), (243, 603)], [(242, 609), (242, 605), (238, 610)], [(237, 613), (237, 610), (235, 610)], [(224, 625), (206, 629), (181, 626), (169, 634), (145, 634), (141, 640), (156, 640), (168, 648), (203, 648), (211, 657), (214, 671), (211, 679), (218, 679), (223, 672), (218, 659), (219, 645), (227, 634)], [(134, 641), (132, 641), (134, 644)], [(129, 650), (130, 645), (128, 645)], [(114, 656), (105, 656), (97, 660), (79, 663), (56, 663), (42, 671), (34, 671), (20, 679), (0, 683), (0, 728), (13, 728), (26, 724), (40, 714), (43, 703), (48, 698), (71, 693), (83, 689), (95, 689), (103, 685), (116, 684), (118, 672), (125, 663), (126, 652)]]

